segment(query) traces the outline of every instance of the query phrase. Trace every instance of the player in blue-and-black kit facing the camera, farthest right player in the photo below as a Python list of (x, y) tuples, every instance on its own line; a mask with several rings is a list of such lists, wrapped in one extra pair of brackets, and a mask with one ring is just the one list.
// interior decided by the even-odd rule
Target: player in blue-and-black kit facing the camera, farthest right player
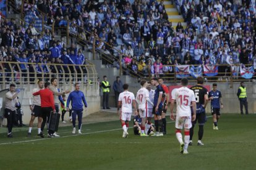
[(213, 130), (218, 130), (218, 119), (220, 118), (220, 108), (223, 108), (221, 92), (217, 90), (217, 84), (213, 83), (213, 90), (209, 92), (211, 100), (211, 115), (213, 115)]

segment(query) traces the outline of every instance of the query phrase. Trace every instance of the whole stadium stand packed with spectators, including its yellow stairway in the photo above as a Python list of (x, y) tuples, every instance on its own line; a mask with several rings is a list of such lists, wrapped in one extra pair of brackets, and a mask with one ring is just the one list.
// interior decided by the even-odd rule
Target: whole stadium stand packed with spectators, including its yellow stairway
[[(15, 19), (1, 19), (4, 62), (81, 65), (84, 51), (96, 51), (103, 65), (124, 75), (169, 81), (196, 66), (201, 74), (217, 71), (208, 75), (227, 81), (242, 69), (254, 75), (256, 68), (254, 1), (8, 2), (9, 13), (22, 18), (19, 26)], [(182, 65), (190, 65), (189, 71)], [(20, 69), (41, 71), (22, 64)]]

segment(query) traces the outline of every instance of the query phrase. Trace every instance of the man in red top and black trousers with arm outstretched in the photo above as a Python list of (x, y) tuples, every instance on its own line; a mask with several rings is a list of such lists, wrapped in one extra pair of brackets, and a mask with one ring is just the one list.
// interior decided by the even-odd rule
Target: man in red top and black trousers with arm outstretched
[[(49, 123), (49, 118), (51, 115), (51, 111), (56, 112), (54, 107), (54, 97), (53, 92), (49, 89), (50, 83), (45, 83), (45, 89), (42, 89), (38, 92), (33, 93), (33, 95), (40, 95), (41, 98), (41, 109), (43, 116), (43, 123), (41, 124), (41, 131), (45, 128), (45, 123), (47, 119), (47, 123)], [(54, 137), (54, 131), (48, 131), (48, 137)]]

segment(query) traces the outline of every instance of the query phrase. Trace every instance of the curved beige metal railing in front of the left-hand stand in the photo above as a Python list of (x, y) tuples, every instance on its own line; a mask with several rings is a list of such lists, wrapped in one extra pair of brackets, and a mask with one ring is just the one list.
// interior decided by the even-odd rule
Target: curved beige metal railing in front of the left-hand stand
[(58, 78), (59, 83), (72, 86), (98, 88), (98, 74), (92, 63), (87, 65), (64, 65), (52, 63), (0, 62), (0, 84), (16, 83), (23, 86), (35, 84), (38, 79), (49, 81)]

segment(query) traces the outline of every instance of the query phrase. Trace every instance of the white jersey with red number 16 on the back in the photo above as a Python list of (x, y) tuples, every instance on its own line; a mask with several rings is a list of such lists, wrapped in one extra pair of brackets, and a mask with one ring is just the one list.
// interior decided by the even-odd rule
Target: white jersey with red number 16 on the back
[(122, 102), (122, 113), (132, 113), (132, 100), (135, 100), (132, 92), (124, 91), (119, 94), (118, 101)]

